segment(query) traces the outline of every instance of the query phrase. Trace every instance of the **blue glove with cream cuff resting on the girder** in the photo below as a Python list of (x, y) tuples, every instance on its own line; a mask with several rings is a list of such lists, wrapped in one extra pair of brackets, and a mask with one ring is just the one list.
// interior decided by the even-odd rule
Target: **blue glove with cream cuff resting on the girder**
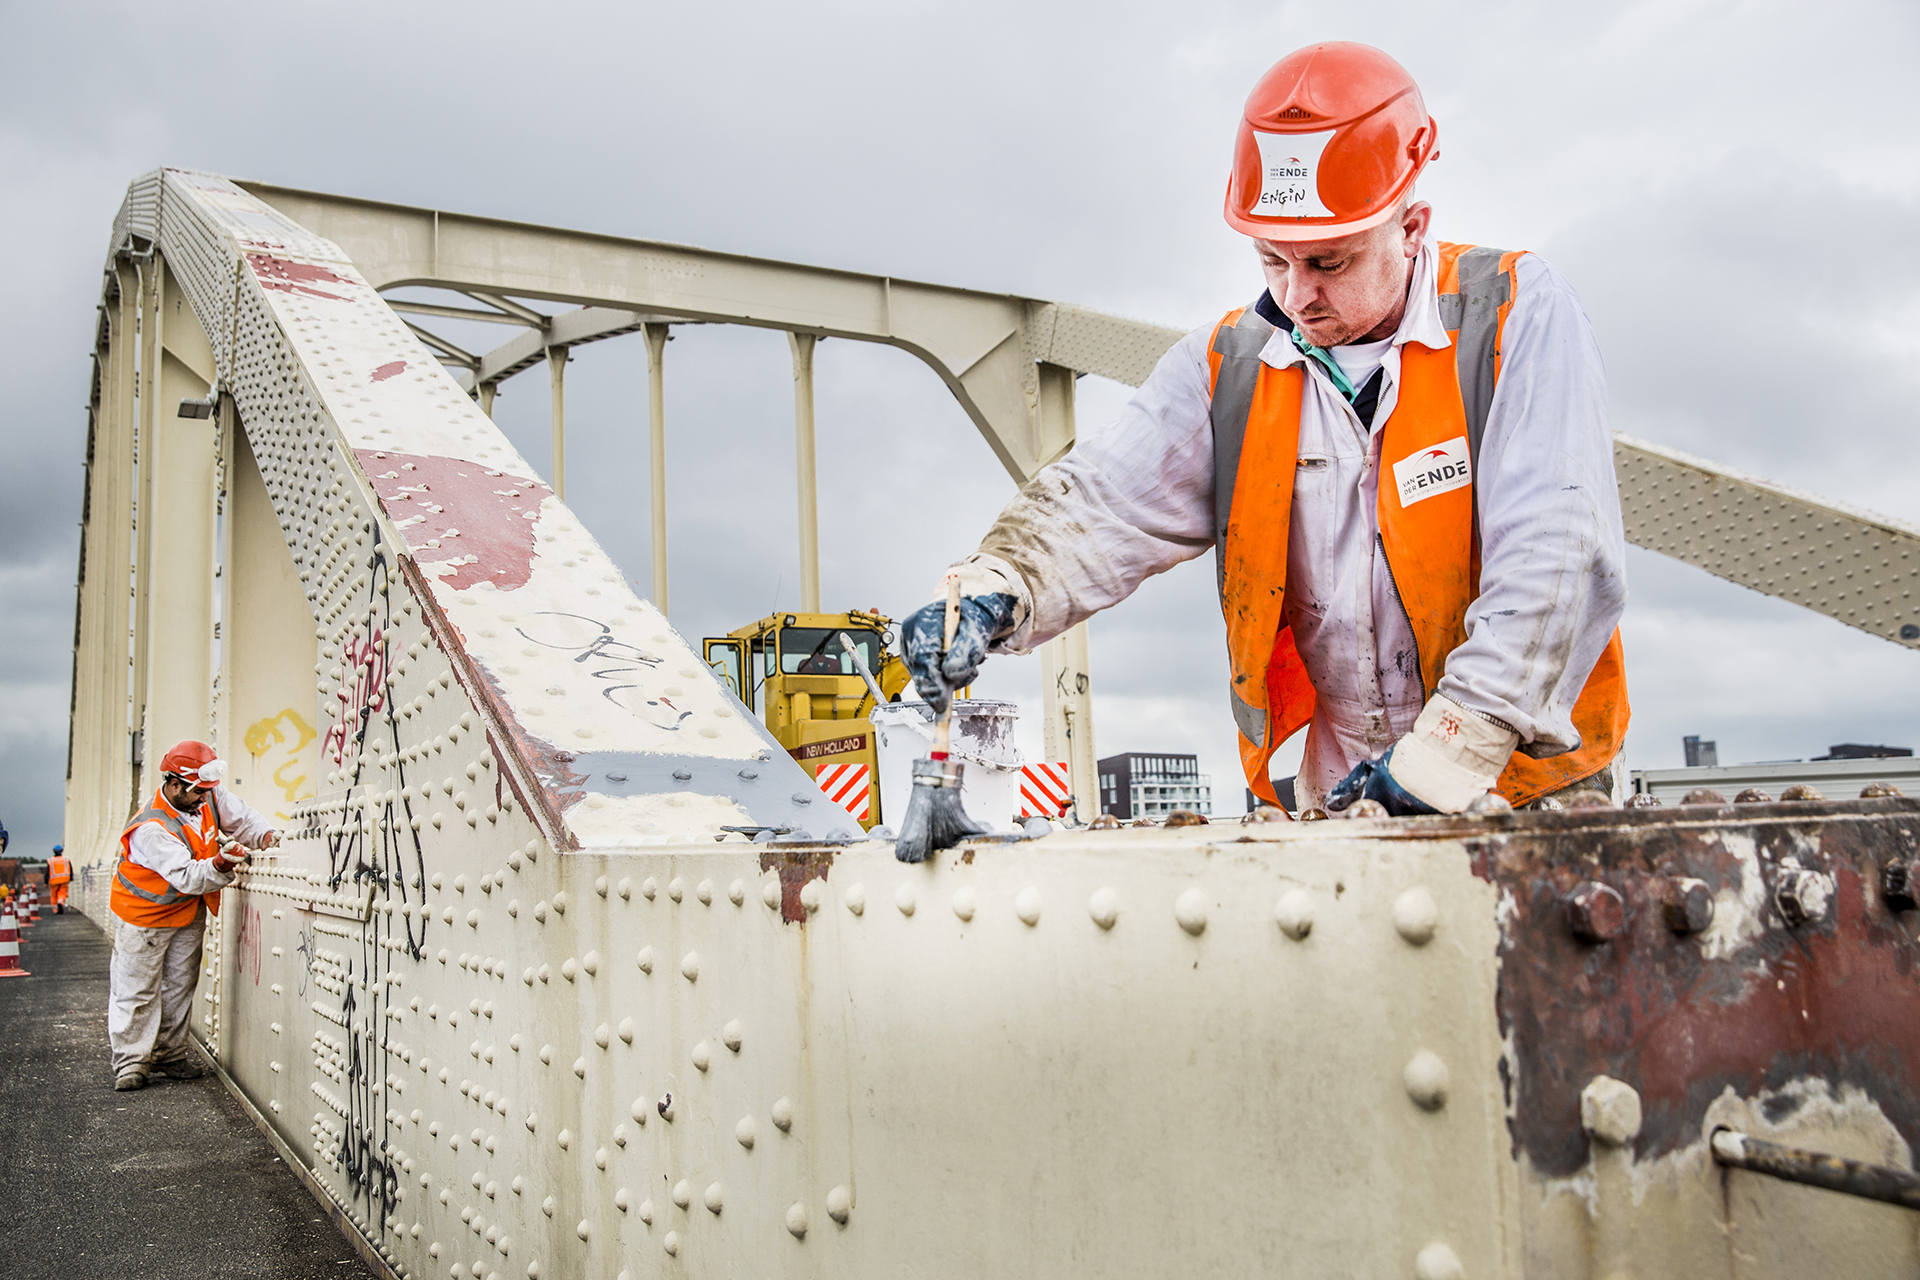
[(1500, 781), (1521, 735), (1436, 693), (1379, 760), (1361, 760), (1327, 793), (1329, 810), (1379, 800), (1394, 818), (1459, 814)]

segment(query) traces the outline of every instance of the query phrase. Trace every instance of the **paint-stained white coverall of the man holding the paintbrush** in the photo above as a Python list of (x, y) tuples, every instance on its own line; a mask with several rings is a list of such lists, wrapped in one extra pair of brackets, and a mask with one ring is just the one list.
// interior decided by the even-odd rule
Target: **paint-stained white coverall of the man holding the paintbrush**
[[(1521, 750), (1572, 750), (1572, 704), (1626, 606), (1607, 384), (1572, 286), (1536, 253), (1519, 259), (1500, 384), (1480, 445), (1480, 597), (1438, 693), (1511, 725)], [(1413, 629), (1379, 537), (1380, 439), (1400, 390), (1400, 347), (1448, 349), (1438, 251), (1413, 265), (1405, 319), (1382, 359), (1373, 430), (1286, 332), (1260, 359), (1308, 370), (1286, 555), (1286, 620), (1317, 693), (1294, 783), (1317, 806), (1356, 764), (1413, 727), (1423, 689)], [(968, 595), (1010, 591), (1027, 652), (1127, 599), (1146, 578), (1213, 545), (1208, 344), (1173, 345), (1119, 418), (1043, 468), (958, 566)], [(1338, 353), (1338, 349), (1336, 349)]]

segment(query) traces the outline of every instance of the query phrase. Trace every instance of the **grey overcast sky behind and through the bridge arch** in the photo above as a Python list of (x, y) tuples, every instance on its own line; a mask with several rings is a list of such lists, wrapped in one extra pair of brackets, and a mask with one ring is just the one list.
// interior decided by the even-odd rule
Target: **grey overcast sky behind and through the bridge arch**
[[(1077, 301), (1194, 326), (1260, 288), (1225, 226), (1238, 109), (1288, 50), (1419, 79), (1442, 238), (1582, 292), (1622, 432), (1920, 524), (1920, 38), (1907, 4), (19, 4), (0, 8), (0, 819), (60, 839), (88, 349), (108, 232), (157, 165)], [(493, 330), (495, 340), (511, 330)], [(799, 603), (776, 332), (668, 347), (672, 604)], [(1081, 428), (1125, 390), (1081, 382)], [(495, 416), (545, 468), (543, 370)], [(1012, 482), (914, 357), (818, 357), (829, 608), (904, 612)], [(568, 368), (570, 497), (645, 593), (645, 351)], [(1630, 764), (1920, 745), (1920, 656), (1630, 553)], [(1092, 628), (1102, 754), (1242, 783), (1212, 562)], [(981, 693), (1037, 725), (1039, 660)], [(1033, 735), (1037, 748), (1037, 735)], [(1298, 750), (1288, 752), (1298, 758)]]

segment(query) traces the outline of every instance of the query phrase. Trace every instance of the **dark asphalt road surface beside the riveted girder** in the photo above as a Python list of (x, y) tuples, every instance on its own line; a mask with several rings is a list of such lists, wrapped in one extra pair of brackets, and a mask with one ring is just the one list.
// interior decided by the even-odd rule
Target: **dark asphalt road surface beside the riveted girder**
[(0, 981), (0, 1274), (372, 1274), (211, 1071), (113, 1092), (111, 944), (90, 919), (42, 915), (19, 950), (33, 977)]

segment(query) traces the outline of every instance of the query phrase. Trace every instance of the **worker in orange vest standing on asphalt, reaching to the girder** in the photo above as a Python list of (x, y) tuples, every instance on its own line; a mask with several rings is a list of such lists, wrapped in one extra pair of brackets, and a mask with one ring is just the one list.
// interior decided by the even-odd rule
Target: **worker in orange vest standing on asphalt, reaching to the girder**
[(113, 1088), (146, 1088), (152, 1073), (202, 1075), (186, 1044), (200, 984), (207, 912), (219, 913), (246, 852), (221, 852), (221, 835), (271, 848), (278, 833), (240, 796), (221, 787), (227, 762), (205, 743), (186, 741), (161, 762), (159, 791), (121, 835), (113, 871), (113, 967), (108, 979), (108, 1038)]

